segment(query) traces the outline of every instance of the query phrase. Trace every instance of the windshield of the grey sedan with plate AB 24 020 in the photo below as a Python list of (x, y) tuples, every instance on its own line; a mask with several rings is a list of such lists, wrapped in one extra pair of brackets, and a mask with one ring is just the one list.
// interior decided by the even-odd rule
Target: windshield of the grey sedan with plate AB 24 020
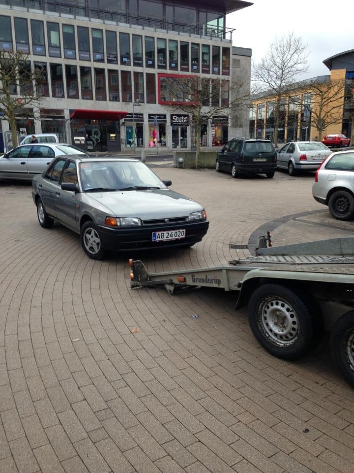
[(85, 192), (166, 189), (165, 184), (139, 161), (89, 161), (79, 164)]

